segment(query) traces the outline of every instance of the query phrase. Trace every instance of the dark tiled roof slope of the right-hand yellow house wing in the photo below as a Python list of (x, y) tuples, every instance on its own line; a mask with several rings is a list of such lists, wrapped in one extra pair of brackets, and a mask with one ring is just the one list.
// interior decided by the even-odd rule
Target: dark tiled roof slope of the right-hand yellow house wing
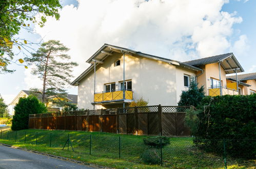
[(199, 66), (199, 65), (205, 65), (205, 64), (212, 64), (218, 61), (221, 61), (229, 56), (233, 55), (233, 53), (225, 53), (221, 55), (211, 56), (211, 57), (205, 57), (201, 59), (196, 60), (190, 60), (185, 61), (185, 64), (191, 65), (191, 66)]

